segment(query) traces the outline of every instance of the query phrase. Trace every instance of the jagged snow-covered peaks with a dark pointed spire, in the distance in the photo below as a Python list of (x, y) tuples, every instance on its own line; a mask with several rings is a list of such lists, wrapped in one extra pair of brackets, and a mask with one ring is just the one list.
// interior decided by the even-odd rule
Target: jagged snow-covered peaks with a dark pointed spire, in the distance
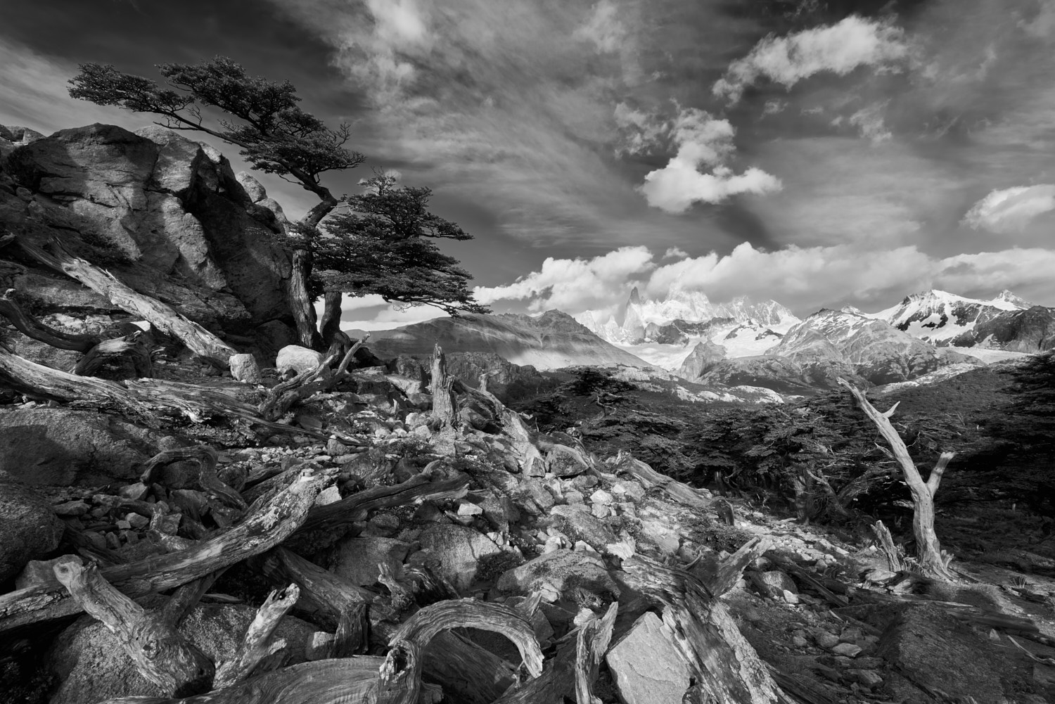
[(611, 315), (586, 310), (575, 320), (598, 337), (617, 345), (660, 342), (687, 344), (692, 337), (702, 337), (702, 324), (714, 319), (750, 324), (762, 329), (783, 332), (800, 319), (776, 301), (754, 303), (747, 297), (727, 303), (712, 303), (703, 291), (672, 286), (663, 301), (642, 297), (635, 287), (630, 291), (621, 324)]

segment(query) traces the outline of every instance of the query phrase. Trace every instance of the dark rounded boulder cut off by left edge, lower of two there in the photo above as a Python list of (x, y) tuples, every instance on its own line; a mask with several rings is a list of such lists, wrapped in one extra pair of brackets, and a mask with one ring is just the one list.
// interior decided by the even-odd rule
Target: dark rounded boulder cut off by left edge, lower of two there
[(65, 525), (32, 489), (0, 482), (0, 585), (59, 547)]

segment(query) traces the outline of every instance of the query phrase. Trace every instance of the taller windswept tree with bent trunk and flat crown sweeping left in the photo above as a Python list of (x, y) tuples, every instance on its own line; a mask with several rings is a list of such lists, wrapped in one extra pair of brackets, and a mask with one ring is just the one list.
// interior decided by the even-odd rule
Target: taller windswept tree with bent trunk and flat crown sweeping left
[[(366, 158), (345, 149), (348, 126), (328, 128), (298, 106), (301, 98), (292, 83), (250, 76), (226, 57), (197, 64), (162, 63), (157, 69), (165, 77), (164, 85), (112, 65), (84, 63), (70, 80), (70, 95), (100, 106), (159, 115), (157, 125), (203, 132), (238, 147), (253, 169), (299, 184), (319, 196), (319, 204), (304, 216), (300, 228), (302, 233), (315, 232), (314, 226), (340, 203), (323, 186), (323, 174), (352, 169)], [(226, 117), (209, 120), (210, 110)], [(301, 344), (316, 347), (320, 335), (308, 291), (312, 247), (304, 237), (299, 242), (302, 246), (292, 252), (289, 304)]]

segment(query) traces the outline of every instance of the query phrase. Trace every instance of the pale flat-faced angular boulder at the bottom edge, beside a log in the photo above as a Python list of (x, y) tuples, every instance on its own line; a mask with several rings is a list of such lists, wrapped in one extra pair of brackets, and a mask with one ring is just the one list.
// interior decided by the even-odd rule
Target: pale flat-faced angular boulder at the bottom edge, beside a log
[(605, 660), (625, 704), (680, 702), (692, 672), (673, 643), (674, 634), (646, 611), (609, 649)]

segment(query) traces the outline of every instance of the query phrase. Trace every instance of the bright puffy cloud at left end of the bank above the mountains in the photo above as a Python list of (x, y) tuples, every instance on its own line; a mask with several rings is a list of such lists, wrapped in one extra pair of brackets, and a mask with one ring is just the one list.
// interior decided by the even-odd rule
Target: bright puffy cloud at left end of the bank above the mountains
[(531, 310), (551, 307), (578, 311), (609, 305), (624, 292), (629, 281), (654, 268), (647, 247), (620, 247), (593, 259), (549, 258), (533, 271), (505, 286), (473, 290), (485, 305), (496, 301), (529, 301)]

